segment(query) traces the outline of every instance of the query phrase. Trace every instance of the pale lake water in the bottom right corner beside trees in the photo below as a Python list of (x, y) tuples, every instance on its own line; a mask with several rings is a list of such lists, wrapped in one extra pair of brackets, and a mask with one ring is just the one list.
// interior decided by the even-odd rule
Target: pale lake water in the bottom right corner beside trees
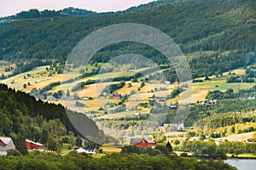
[(238, 170), (256, 170), (256, 160), (254, 159), (237, 159), (225, 160), (224, 162), (236, 167)]

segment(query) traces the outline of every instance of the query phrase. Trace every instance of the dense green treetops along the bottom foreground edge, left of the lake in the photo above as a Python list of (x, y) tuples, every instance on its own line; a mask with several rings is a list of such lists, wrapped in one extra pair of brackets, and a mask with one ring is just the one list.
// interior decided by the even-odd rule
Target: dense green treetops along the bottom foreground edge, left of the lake
[(224, 161), (183, 158), (179, 156), (148, 156), (137, 154), (111, 154), (93, 158), (72, 152), (67, 156), (52, 153), (37, 153), (31, 156), (1, 156), (0, 169), (191, 169), (191, 170), (235, 170)]

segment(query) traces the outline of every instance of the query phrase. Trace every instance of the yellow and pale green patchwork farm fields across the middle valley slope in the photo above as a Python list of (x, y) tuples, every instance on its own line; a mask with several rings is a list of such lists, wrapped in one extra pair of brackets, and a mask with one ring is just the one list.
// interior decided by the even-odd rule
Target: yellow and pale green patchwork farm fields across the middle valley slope
[[(20, 75), (17, 75), (15, 77), (10, 77), (8, 79), (5, 79), (1, 82), (6, 83), (9, 85), (10, 88), (19, 89), (25, 92), (30, 92), (32, 88), (44, 88), (49, 83), (52, 82), (62, 82), (67, 81), (69, 79), (79, 77), (80, 73), (79, 71), (83, 69), (82, 67), (76, 68), (71, 70), (68, 73), (65, 74), (52, 74), (49, 77), (49, 71), (47, 71), (46, 66), (40, 66), (32, 71), (27, 71), (25, 73), (21, 73)], [(88, 67), (89, 70), (93, 68), (93, 66)], [(3, 68), (2, 68), (3, 69)], [(86, 82), (89, 79), (90, 80), (100, 80), (105, 78), (113, 78), (113, 77), (120, 77), (120, 76), (132, 76), (138, 71), (145, 71), (147, 68), (139, 69), (139, 70), (130, 70), (130, 71), (122, 71), (122, 72), (110, 72), (110, 73), (104, 73), (104, 74), (98, 74), (90, 77), (84, 77), (81, 80), (65, 83), (62, 85), (58, 85), (53, 87), (48, 91), (48, 93), (55, 93), (59, 90), (63, 90), (64, 93), (67, 93), (67, 89), (71, 92), (71, 89), (77, 85), (79, 82)], [(232, 71), (233, 73), (236, 73), (236, 75), (243, 75), (245, 73), (245, 70), (237, 69)], [(224, 73), (224, 75), (228, 74)], [(205, 77), (201, 77), (199, 79), (204, 80)], [(184, 101), (189, 102), (197, 102), (202, 101), (206, 98), (209, 90), (221, 90), (225, 91), (229, 88), (234, 89), (235, 92), (238, 92), (239, 89), (246, 89), (246, 88), (252, 88), (255, 83), (227, 83), (225, 80), (225, 77), (210, 77), (212, 80), (210, 81), (204, 81), (204, 82), (196, 82), (192, 84), (193, 88), (193, 95), (192, 98), (189, 96), (190, 94), (187, 93), (187, 91), (183, 92), (182, 94), (177, 95), (174, 99), (168, 99), (166, 100), (166, 105), (173, 104), (176, 102), (179, 102), (180, 99), (183, 99)], [(119, 82), (112, 82), (112, 83), (119, 83)], [(128, 109), (134, 108), (140, 103), (146, 103), (148, 102), (148, 97), (152, 97), (155, 95), (156, 97), (166, 97), (168, 94), (172, 92), (173, 88), (176, 88), (179, 85), (174, 84), (164, 84), (160, 82), (152, 82), (148, 83), (146, 82), (143, 88), (141, 87), (142, 82), (131, 82), (127, 81), (125, 82), (125, 86), (123, 88), (119, 88), (114, 91), (114, 93), (119, 94), (129, 94), (129, 98), (127, 101), (125, 101), (125, 105)], [(24, 84), (26, 84), (26, 88), (24, 88)], [(76, 106), (76, 100), (58, 100), (58, 101), (50, 101), (54, 102), (56, 104), (66, 105), (69, 109), (80, 111), (80, 112), (88, 112), (88, 111), (98, 111), (101, 107), (104, 108), (105, 105), (108, 102), (112, 102), (114, 104), (118, 104), (120, 99), (111, 99), (109, 96), (102, 96), (102, 89), (106, 88), (111, 82), (102, 82), (102, 83), (96, 83), (91, 85), (86, 85), (84, 88), (82, 88), (79, 91), (71, 92), (71, 95), (77, 94), (80, 98), (83, 97), (92, 97), (92, 100), (79, 100), (79, 103), (84, 104), (84, 107), (78, 107)], [(146, 111), (145, 108), (143, 111)], [(127, 114), (127, 113), (126, 113)], [(120, 116), (124, 116), (124, 113), (119, 113)], [(117, 115), (117, 116), (119, 116)], [(111, 116), (103, 116), (112, 118)]]

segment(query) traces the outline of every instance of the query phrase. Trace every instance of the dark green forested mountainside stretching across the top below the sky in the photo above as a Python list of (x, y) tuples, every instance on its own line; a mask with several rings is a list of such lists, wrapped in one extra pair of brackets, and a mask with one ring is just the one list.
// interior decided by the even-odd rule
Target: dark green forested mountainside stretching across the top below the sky
[[(164, 31), (184, 53), (195, 51), (252, 51), (256, 44), (256, 3), (247, 1), (193, 0), (148, 3), (124, 12), (55, 14), (32, 10), (34, 17), (20, 17), (0, 29), (0, 59), (66, 59), (86, 35), (116, 23), (141, 23)], [(59, 15), (61, 14), (61, 15)], [(32, 15), (33, 16), (33, 15)], [(96, 54), (112, 58), (122, 49), (156, 59), (155, 50), (136, 43), (114, 44)], [(113, 52), (114, 51), (114, 52)], [(160, 60), (160, 59), (156, 59)]]

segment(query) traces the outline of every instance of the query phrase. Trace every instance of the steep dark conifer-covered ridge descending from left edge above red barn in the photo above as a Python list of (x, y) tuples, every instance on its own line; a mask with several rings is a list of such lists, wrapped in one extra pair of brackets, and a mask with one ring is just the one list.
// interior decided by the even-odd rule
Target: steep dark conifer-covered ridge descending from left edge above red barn
[[(44, 131), (53, 136), (63, 136), (68, 131), (78, 135), (67, 117), (67, 111), (62, 105), (48, 104), (41, 100), (6, 85), (0, 84), (0, 136), (20, 135), (43, 142)], [(95, 125), (95, 122), (84, 116), (85, 124)], [(86, 122), (87, 121), (87, 122)]]

